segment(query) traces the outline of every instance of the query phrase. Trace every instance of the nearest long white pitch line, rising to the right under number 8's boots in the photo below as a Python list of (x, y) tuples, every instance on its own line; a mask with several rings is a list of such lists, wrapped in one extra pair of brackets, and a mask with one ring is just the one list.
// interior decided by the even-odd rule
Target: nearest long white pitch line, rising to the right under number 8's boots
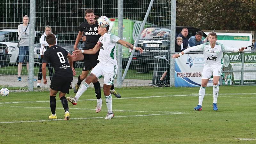
[[(176, 114), (187, 114), (187, 113), (171, 113), (171, 114), (149, 114), (149, 115), (132, 115), (132, 116), (114, 116), (114, 118), (118, 117), (139, 117), (139, 116), (159, 116), (159, 115), (176, 115)], [(105, 117), (84, 117), (84, 118), (70, 118), (70, 120), (76, 119), (92, 119), (92, 118), (105, 118)], [(7, 123), (31, 123), (31, 122), (45, 122), (45, 121), (59, 121), (64, 119), (47, 119), (47, 120), (34, 120), (34, 121), (11, 121), (11, 122), (0, 122), (0, 124)]]

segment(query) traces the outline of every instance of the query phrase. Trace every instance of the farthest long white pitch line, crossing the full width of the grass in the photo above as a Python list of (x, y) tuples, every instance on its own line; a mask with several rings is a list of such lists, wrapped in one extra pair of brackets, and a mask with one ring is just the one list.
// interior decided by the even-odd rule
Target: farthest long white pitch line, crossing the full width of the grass
[[(220, 93), (219, 95), (246, 95), (246, 94), (255, 94), (256, 93)], [(159, 98), (159, 97), (180, 97), (180, 96), (197, 96), (198, 94), (185, 94), (185, 95), (163, 95), (163, 96), (148, 96), (148, 97), (128, 97), (128, 98), (120, 98), (120, 99), (112, 99), (112, 100), (123, 100), (123, 99), (142, 99), (142, 98)], [(212, 94), (205, 94), (205, 95), (212, 95)], [(251, 98), (256, 99), (256, 97), (233, 97), (233, 96), (221, 96), (221, 97), (227, 97), (227, 98)], [(97, 99), (87, 99), (87, 100), (97, 100)], [(102, 99), (105, 100), (105, 99)], [(56, 100), (60, 101), (60, 100)], [(84, 100), (78, 100), (78, 101), (84, 101)], [(2, 102), (0, 104), (12, 104), (12, 103), (35, 103), (35, 102), (49, 102), (48, 101), (18, 101), (18, 102)]]

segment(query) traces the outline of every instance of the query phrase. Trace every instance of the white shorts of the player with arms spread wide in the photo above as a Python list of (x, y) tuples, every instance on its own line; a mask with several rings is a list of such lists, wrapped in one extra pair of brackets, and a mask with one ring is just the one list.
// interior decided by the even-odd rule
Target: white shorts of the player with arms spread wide
[(208, 79), (212, 76), (220, 76), (222, 72), (222, 65), (221, 66), (204, 66), (202, 71), (202, 79)]

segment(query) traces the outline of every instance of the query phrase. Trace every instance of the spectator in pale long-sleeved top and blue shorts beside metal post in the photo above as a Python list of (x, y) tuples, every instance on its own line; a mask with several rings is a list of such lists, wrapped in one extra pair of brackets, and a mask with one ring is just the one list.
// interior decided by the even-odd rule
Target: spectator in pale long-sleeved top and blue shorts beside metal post
[[(22, 64), (27, 60), (27, 70), (29, 69), (28, 65), (28, 54), (29, 54), (29, 18), (28, 15), (23, 16), (23, 24), (18, 26), (18, 35), (19, 35), (19, 64), (18, 64), (18, 81), (21, 80), (21, 70)], [(36, 31), (35, 31), (36, 37)], [(34, 79), (36, 81), (36, 79)]]

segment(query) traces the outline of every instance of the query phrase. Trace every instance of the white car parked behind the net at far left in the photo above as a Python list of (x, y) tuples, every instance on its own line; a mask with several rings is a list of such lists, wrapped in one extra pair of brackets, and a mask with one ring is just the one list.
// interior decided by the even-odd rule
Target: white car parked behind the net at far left
[[(40, 37), (42, 33), (36, 32), (35, 37), (35, 49), (34, 49), (34, 58), (35, 62), (36, 59), (39, 58), (39, 55), (36, 53), (36, 46), (40, 45)], [(2, 29), (0, 30), (0, 43), (6, 44), (8, 47), (8, 54), (11, 54), (10, 64), (16, 64), (18, 55), (19, 55), (19, 48), (17, 47), (19, 41), (18, 29)]]

